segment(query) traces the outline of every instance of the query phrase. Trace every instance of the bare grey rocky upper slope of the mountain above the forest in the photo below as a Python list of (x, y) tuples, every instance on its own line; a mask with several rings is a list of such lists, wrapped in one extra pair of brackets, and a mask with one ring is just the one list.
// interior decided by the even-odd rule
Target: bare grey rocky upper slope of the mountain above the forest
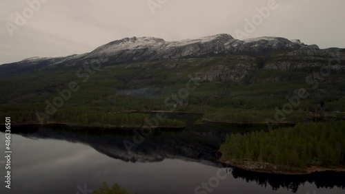
[[(17, 63), (0, 65), (0, 76), (11, 76), (21, 72), (39, 71), (41, 68), (66, 67), (73, 65), (119, 63), (139, 61), (166, 61), (179, 58), (200, 58), (204, 56), (233, 56), (239, 61), (233, 69), (213, 67), (207, 74), (227, 72), (220, 75), (223, 80), (241, 80), (244, 71), (264, 69), (295, 69), (307, 66), (321, 67), (331, 58), (339, 63), (331, 64), (331, 69), (344, 71), (344, 50), (333, 48), (320, 50), (317, 45), (305, 45), (299, 40), (288, 40), (279, 37), (261, 37), (240, 41), (229, 34), (217, 34), (200, 39), (184, 41), (164, 41), (152, 37), (132, 37), (112, 41), (90, 53), (75, 54), (57, 58), (28, 58)], [(232, 72), (235, 71), (235, 74)], [(230, 75), (231, 74), (231, 75)], [(229, 77), (230, 75), (230, 77)], [(219, 76), (218, 76), (219, 77)], [(214, 78), (208, 78), (213, 80)]]

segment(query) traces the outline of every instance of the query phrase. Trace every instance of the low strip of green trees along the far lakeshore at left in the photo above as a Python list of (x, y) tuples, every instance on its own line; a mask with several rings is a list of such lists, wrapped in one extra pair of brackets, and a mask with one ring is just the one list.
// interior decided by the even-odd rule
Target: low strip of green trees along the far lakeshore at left
[[(25, 106), (32, 109), (30, 106)], [(18, 109), (18, 107), (17, 107)], [(20, 109), (18, 109), (20, 110)], [(32, 111), (14, 111), (10, 105), (3, 106), (0, 116), (3, 118), (10, 115), (15, 118), (17, 123), (37, 123), (36, 112)], [(68, 125), (93, 126), (93, 127), (151, 127), (146, 120), (150, 120), (149, 114), (139, 113), (112, 113), (105, 112), (103, 109), (90, 110), (85, 107), (75, 107), (70, 109), (59, 109), (46, 122), (63, 122)], [(152, 125), (155, 125), (153, 123)], [(166, 118), (159, 120), (157, 126), (152, 127), (184, 127), (186, 124), (180, 120)]]

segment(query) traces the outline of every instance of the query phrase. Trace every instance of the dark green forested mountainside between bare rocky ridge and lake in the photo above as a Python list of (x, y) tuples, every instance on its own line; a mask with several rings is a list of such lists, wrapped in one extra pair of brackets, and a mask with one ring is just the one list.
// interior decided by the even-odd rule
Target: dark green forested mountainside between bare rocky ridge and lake
[[(253, 63), (254, 59), (236, 56), (188, 58), (170, 61), (126, 63), (103, 66), (83, 83), (77, 76), (80, 66), (45, 67), (39, 71), (18, 73), (16, 76), (0, 77), (0, 116), (11, 116), (16, 123), (37, 123), (37, 111), (44, 113), (50, 103), (75, 81), (80, 89), (72, 92), (63, 106), (50, 116), (48, 122), (68, 122), (72, 125), (137, 126), (144, 115), (122, 114), (128, 111), (195, 111), (204, 113), (205, 120), (223, 122), (264, 122), (275, 117), (275, 107), (282, 109), (297, 89), (305, 88), (308, 98), (293, 107), (284, 122), (301, 122), (310, 111), (317, 111), (324, 102), (328, 115), (344, 116), (344, 73), (334, 73), (319, 80), (317, 89), (306, 83), (306, 77), (314, 70), (278, 71), (257, 69), (255, 74), (243, 81), (203, 80), (187, 98), (175, 102), (166, 98), (178, 95), (185, 88), (188, 75), (207, 72), (223, 65), (232, 67), (237, 63)], [(279, 77), (278, 80), (277, 77)], [(192, 85), (193, 87), (194, 85)], [(160, 125), (181, 126), (176, 120), (166, 120)]]

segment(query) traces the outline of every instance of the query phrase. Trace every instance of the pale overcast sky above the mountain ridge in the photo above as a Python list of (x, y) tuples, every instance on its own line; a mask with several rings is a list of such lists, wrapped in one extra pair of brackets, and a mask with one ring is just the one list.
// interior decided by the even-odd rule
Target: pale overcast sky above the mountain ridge
[[(131, 36), (177, 41), (226, 33), (239, 39), (235, 30), (246, 32), (245, 19), (251, 21), (256, 8), (274, 0), (150, 0), (151, 9), (148, 0), (44, 1), (32, 17), (26, 1), (0, 1), (0, 64), (81, 54)], [(277, 0), (275, 7), (248, 38), (282, 36), (322, 48), (345, 47), (344, 0)], [(15, 13), (23, 16), (23, 10), (28, 19), (18, 26)]]

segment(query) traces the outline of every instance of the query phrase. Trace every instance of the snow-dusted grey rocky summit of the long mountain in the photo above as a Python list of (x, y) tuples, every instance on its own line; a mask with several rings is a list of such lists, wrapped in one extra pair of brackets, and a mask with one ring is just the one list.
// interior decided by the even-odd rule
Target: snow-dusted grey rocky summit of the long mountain
[(304, 45), (297, 41), (278, 37), (262, 37), (239, 41), (229, 34), (217, 34), (200, 39), (164, 41), (153, 37), (132, 37), (113, 41), (98, 47), (84, 59), (103, 58), (111, 62), (151, 61), (170, 58), (185, 58), (209, 54), (263, 53), (284, 49), (318, 50), (317, 45)]

